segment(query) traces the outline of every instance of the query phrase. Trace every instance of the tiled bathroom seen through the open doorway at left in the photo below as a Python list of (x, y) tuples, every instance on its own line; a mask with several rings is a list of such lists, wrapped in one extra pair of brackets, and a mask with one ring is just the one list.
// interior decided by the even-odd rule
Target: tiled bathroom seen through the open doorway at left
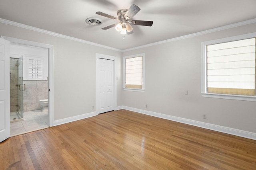
[(48, 126), (48, 49), (10, 44), (10, 135)]

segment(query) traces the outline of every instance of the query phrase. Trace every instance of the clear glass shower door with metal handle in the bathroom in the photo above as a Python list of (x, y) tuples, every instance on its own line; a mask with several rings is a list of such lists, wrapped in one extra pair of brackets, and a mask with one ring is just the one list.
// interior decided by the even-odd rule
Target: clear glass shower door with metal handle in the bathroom
[(23, 84), (23, 56), (18, 59), (18, 115), (23, 118), (23, 91), (26, 85)]

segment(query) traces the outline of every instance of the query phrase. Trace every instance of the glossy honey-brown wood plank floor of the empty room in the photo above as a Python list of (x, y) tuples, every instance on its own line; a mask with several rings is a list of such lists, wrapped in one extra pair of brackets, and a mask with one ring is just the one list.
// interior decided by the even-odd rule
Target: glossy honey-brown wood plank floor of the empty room
[(256, 170), (256, 141), (119, 110), (11, 137), (0, 169)]

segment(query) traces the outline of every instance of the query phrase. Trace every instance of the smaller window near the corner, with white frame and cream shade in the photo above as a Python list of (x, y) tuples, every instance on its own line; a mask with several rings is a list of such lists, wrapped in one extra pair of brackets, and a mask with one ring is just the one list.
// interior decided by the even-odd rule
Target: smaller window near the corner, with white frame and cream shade
[(145, 54), (124, 57), (124, 90), (144, 92)]

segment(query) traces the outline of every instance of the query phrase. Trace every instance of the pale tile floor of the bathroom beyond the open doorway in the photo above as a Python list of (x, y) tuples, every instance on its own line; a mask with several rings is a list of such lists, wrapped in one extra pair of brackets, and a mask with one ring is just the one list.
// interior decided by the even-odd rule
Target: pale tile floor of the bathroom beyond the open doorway
[(22, 133), (35, 131), (48, 127), (48, 112), (41, 110), (26, 111), (23, 113), (23, 121), (10, 123), (10, 135), (15, 136)]

